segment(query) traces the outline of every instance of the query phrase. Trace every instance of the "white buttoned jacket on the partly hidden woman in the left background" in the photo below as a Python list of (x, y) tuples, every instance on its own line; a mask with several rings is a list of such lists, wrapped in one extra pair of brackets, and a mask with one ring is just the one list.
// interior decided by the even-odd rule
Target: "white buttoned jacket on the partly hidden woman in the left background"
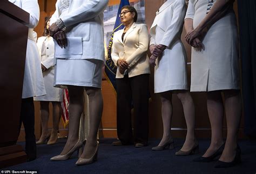
[[(39, 50), (40, 57), (41, 57), (42, 47), (43, 47), (43, 43), (44, 43), (45, 39), (47, 39), (47, 37), (40, 37), (37, 40), (37, 47)], [(46, 44), (45, 45), (46, 56), (45, 56), (45, 59), (42, 59), (42, 57), (41, 57), (41, 63), (43, 64), (43, 66), (45, 66), (45, 68), (49, 69), (55, 65), (55, 57), (54, 57), (55, 45), (53, 42), (53, 38), (50, 37), (48, 42), (45, 42), (45, 44)]]

